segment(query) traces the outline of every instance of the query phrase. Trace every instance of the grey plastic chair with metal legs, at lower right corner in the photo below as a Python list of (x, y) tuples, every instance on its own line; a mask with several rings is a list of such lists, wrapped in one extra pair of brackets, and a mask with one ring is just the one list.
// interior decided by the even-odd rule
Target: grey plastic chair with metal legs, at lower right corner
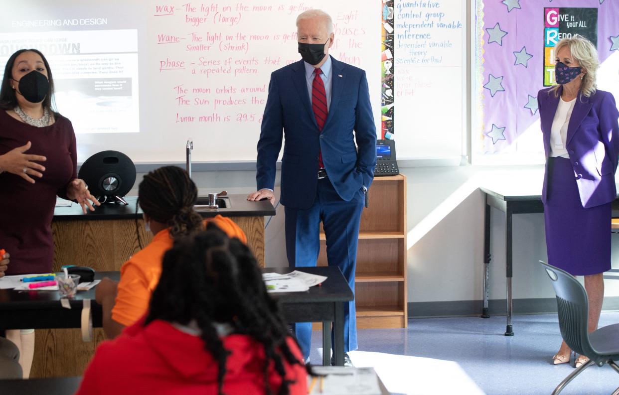
[[(589, 314), (589, 302), (587, 292), (571, 274), (540, 261), (552, 280), (555, 288), (556, 304), (559, 311), (559, 328), (563, 340), (569, 348), (578, 354), (589, 357), (589, 361), (570, 373), (553, 391), (556, 395), (565, 388), (574, 377), (592, 364), (604, 366), (608, 363), (617, 373), (619, 367), (615, 363), (619, 360), (619, 324), (612, 324), (599, 328), (589, 333), (587, 331), (587, 316)], [(613, 392), (619, 395), (619, 388)]]

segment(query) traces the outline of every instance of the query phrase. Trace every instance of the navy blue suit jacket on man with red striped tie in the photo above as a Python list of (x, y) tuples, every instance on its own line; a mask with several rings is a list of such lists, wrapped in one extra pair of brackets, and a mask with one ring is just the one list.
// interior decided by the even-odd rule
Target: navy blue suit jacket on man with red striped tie
[(293, 209), (308, 209), (314, 203), (319, 152), (329, 180), (345, 201), (361, 193), (363, 186), (369, 188), (374, 177), (376, 126), (365, 71), (331, 61), (331, 106), (322, 132), (309, 102), (303, 61), (271, 74), (256, 181), (258, 189), (274, 188), (275, 162), (284, 137), (281, 202)]

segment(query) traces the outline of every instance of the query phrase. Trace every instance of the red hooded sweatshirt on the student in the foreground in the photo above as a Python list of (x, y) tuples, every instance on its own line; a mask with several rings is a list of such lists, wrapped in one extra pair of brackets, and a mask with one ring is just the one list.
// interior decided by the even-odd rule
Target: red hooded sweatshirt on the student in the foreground
[[(100, 344), (84, 373), (77, 395), (97, 394), (217, 394), (217, 362), (204, 350), (200, 337), (181, 332), (167, 321), (129, 326), (113, 341)], [(223, 378), (223, 393), (265, 394), (262, 367), (264, 349), (251, 337), (230, 334), (222, 338), (230, 352)], [(302, 355), (292, 338), (293, 355)], [(291, 395), (307, 394), (307, 373), (300, 365), (284, 362)], [(281, 379), (271, 367), (269, 382), (277, 393)]]

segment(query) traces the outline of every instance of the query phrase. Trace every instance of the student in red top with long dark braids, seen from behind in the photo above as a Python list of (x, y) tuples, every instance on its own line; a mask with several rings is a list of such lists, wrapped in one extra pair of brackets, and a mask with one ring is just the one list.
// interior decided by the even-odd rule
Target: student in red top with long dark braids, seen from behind
[(305, 395), (306, 370), (251, 251), (210, 229), (163, 257), (150, 310), (99, 345), (77, 395)]

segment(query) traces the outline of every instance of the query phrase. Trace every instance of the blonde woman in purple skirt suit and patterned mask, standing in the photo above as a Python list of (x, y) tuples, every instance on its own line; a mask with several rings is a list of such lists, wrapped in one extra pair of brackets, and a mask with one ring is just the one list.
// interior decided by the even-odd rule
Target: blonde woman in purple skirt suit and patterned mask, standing
[[(589, 331), (597, 329), (610, 269), (610, 204), (617, 197), (619, 111), (609, 92), (595, 89), (595, 46), (575, 35), (555, 46), (558, 85), (537, 95), (547, 157), (542, 202), (548, 263), (584, 276)], [(563, 342), (553, 363), (567, 363)], [(579, 367), (587, 358), (579, 356)]]

